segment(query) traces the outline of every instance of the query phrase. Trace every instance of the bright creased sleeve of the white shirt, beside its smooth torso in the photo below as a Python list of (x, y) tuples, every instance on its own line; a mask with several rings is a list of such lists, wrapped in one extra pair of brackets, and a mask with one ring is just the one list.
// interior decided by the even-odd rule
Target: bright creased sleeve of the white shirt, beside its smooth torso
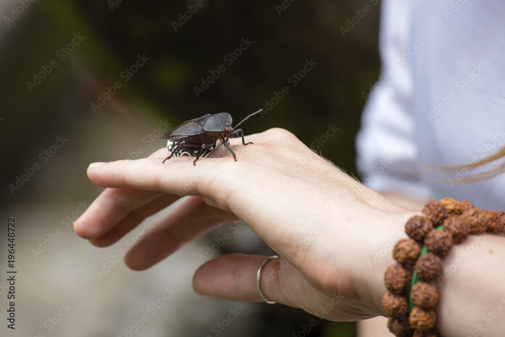
[(410, 1), (381, 5), (381, 74), (368, 92), (362, 128), (356, 140), (358, 170), (363, 182), (378, 192), (394, 191), (429, 199), (418, 173), (418, 148), (413, 117), (411, 58), (420, 50), (410, 41)]

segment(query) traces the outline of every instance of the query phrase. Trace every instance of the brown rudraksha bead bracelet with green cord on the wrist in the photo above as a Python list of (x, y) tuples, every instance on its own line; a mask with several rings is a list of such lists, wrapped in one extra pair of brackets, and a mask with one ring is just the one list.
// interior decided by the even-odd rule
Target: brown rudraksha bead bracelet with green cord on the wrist
[(434, 281), (442, 273), (442, 258), (468, 234), (505, 233), (505, 212), (478, 209), (466, 200), (430, 200), (422, 214), (407, 221), (410, 238), (394, 246), (398, 263), (384, 275), (389, 292), (382, 297), (382, 308), (397, 337), (439, 336), (435, 309), (440, 294)]

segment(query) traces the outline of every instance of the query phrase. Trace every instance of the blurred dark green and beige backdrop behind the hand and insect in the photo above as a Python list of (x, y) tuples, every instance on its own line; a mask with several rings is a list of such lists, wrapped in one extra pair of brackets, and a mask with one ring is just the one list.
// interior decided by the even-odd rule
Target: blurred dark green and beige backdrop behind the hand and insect
[[(242, 125), (246, 134), (286, 128), (356, 174), (354, 139), (379, 73), (379, 12), (369, 0), (2, 0), (2, 316), (11, 301), (9, 217), (18, 273), (16, 330), (3, 320), (0, 334), (354, 336), (354, 323), (316, 318), (307, 331), (314, 317), (301, 310), (194, 294), (200, 256), (226, 233), (231, 239), (216, 256), (271, 253), (246, 226), (224, 225), (134, 272), (118, 256), (168, 210), (109, 248), (77, 237), (71, 222), (101, 191), (86, 177), (90, 162), (146, 157), (166, 145), (161, 134), (207, 113), (225, 111), (238, 122), (266, 108)], [(307, 60), (310, 71), (294, 80)], [(195, 92), (218, 69), (225, 71)], [(338, 131), (326, 137), (330, 126)], [(240, 314), (223, 321), (230, 310)]]

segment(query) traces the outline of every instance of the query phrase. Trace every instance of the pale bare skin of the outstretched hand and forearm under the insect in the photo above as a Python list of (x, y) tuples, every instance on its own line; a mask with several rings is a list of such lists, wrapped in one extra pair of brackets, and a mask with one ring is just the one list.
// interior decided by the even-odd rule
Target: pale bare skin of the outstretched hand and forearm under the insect
[[(107, 189), (75, 221), (75, 231), (95, 246), (109, 246), (181, 195), (190, 196), (130, 250), (130, 268), (149, 268), (186, 242), (241, 219), (281, 257), (263, 268), (261, 286), (269, 300), (336, 321), (384, 315), (383, 275), (394, 261), (390, 251), (382, 252), (406, 237), (403, 226), (419, 212), (352, 179), (286, 130), (270, 129), (246, 141), (254, 145), (230, 139), (237, 162), (219, 147), (216, 158), (194, 167), (189, 157), (162, 164), (163, 148), (149, 158), (90, 165), (89, 179)], [(479, 324), (479, 336), (505, 331), (505, 311), (491, 324), (483, 320), (505, 299), (504, 243), (498, 236), (472, 236), (444, 258), (445, 266), (462, 260), (441, 282), (437, 312), (444, 336), (466, 335)], [(472, 253), (463, 255), (472, 245)], [(256, 272), (265, 258), (229, 254), (211, 260), (196, 270), (194, 290), (261, 301)]]

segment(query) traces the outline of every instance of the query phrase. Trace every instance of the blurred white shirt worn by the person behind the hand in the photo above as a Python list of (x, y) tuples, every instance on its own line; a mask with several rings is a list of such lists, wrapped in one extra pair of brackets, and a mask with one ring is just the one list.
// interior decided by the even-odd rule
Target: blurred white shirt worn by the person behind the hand
[(482, 169), (441, 169), (505, 146), (505, 2), (384, 0), (381, 10), (381, 76), (357, 137), (363, 181), (505, 210), (505, 175), (468, 183)]

